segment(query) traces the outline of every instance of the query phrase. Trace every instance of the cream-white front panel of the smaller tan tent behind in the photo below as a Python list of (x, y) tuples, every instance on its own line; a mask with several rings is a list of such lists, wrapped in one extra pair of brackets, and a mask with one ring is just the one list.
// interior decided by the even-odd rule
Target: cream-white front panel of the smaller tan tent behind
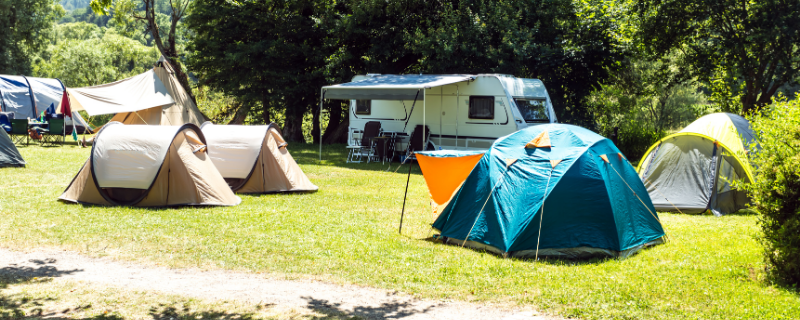
[(225, 178), (246, 179), (258, 160), (269, 126), (216, 126), (206, 122), (200, 127), (209, 146), (211, 161)]

